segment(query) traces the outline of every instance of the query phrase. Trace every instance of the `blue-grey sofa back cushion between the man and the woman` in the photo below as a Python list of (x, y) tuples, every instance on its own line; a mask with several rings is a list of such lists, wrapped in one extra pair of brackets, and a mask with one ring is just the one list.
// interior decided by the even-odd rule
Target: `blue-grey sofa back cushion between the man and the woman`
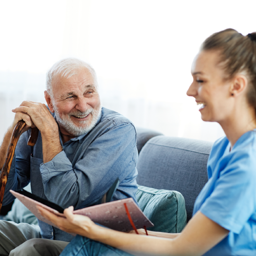
[(207, 160), (211, 146), (207, 141), (156, 136), (140, 152), (137, 183), (179, 191), (185, 199), (188, 221), (195, 200), (208, 180)]

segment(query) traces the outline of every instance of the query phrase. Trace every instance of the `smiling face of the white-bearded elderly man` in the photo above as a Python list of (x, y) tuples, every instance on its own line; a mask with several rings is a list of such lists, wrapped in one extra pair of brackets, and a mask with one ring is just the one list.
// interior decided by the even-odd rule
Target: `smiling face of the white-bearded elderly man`
[(100, 115), (101, 105), (90, 71), (84, 68), (70, 78), (57, 76), (52, 81), (52, 90), (53, 111), (61, 133), (79, 136), (91, 131)]

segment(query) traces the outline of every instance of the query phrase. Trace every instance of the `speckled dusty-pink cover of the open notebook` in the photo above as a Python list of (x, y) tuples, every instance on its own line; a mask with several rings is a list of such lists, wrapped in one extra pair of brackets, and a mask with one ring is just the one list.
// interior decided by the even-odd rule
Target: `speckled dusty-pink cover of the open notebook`
[[(19, 193), (10, 190), (13, 196), (15, 196), (20, 202), (22, 202), (31, 212), (34, 214), (38, 220), (44, 221), (47, 224), (56, 227), (52, 222), (42, 217), (36, 205), (44, 207), (54, 214), (64, 217), (63, 214), (60, 214), (57, 210), (54, 210), (42, 203), (39, 203), (33, 199), (30, 199), (26, 196), (20, 195)], [(153, 227), (154, 224), (146, 218), (138, 205), (134, 202), (132, 198), (126, 198), (122, 200), (112, 201), (109, 203), (98, 204), (90, 207), (86, 207), (79, 210), (74, 210), (74, 214), (80, 214), (88, 216), (92, 221), (101, 224), (105, 227), (109, 227), (118, 231), (130, 231), (133, 230), (132, 225), (127, 217), (124, 203), (126, 203), (127, 208), (129, 209), (130, 215), (134, 222), (136, 228)]]

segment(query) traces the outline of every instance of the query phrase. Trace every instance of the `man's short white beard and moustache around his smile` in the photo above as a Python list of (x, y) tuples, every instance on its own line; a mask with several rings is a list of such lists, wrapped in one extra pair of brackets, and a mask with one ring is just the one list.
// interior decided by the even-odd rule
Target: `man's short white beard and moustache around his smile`
[[(56, 120), (58, 121), (58, 123), (67, 132), (77, 137), (90, 132), (94, 128), (101, 113), (101, 105), (97, 106), (97, 108), (95, 109), (88, 109), (86, 112), (81, 112), (79, 110), (73, 111), (67, 115), (62, 115), (62, 117), (60, 117), (60, 114), (55, 104), (53, 104), (53, 110), (55, 112)], [(92, 115), (92, 118), (90, 120), (81, 121), (79, 126), (75, 125), (71, 120), (71, 116), (87, 116), (89, 114)]]

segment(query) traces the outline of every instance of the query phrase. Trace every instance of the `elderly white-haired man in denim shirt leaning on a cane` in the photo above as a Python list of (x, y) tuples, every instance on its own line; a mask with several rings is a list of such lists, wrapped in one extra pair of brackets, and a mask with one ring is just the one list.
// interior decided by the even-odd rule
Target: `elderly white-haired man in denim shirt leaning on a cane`
[[(0, 168), (14, 126), (22, 119), (26, 126), (16, 146), (3, 204), (14, 199), (10, 189), (20, 189), (31, 182), (33, 194), (63, 208), (73, 205), (79, 209), (99, 200), (117, 177), (120, 184), (113, 200), (135, 199), (135, 127), (122, 115), (101, 108), (95, 71), (75, 58), (56, 62), (47, 73), (45, 98), (48, 108), (24, 101), (12, 110), (15, 119), (0, 148)], [(35, 146), (30, 147), (29, 129), (34, 126), (39, 135)], [(0, 221), (0, 255), (8, 255), (33, 238), (58, 240), (58, 255), (74, 238), (44, 222), (38, 223), (39, 227)], [(22, 255), (17, 250), (16, 255)], [(54, 250), (51, 252), (55, 255)]]

